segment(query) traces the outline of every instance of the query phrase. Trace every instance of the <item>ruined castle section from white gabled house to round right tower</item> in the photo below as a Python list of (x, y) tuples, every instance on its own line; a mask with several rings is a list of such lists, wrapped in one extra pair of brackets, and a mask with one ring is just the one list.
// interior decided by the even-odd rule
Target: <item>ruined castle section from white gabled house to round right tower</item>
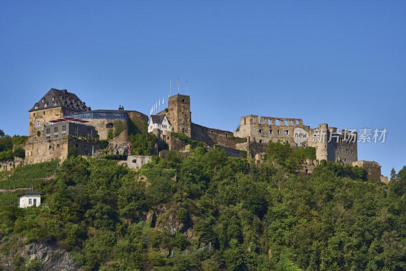
[[(165, 116), (159, 120), (157, 116)], [(162, 122), (162, 123), (160, 123)], [(168, 129), (169, 127), (171, 129)], [(184, 133), (192, 140), (205, 142), (207, 146), (224, 148), (227, 155), (241, 157), (246, 150), (250, 157), (260, 160), (266, 154), (267, 143), (278, 140), (287, 141), (292, 146), (315, 147), (316, 158), (351, 165), (358, 160), (357, 134), (320, 124), (317, 128), (303, 125), (299, 118), (243, 116), (239, 129), (230, 132), (208, 128), (192, 123), (190, 114), (190, 97), (174, 95), (170, 97), (167, 110), (151, 115), (148, 132), (167, 141), (172, 150), (180, 150), (184, 145), (170, 132)], [(302, 136), (300, 139), (298, 137)], [(306, 137), (306, 138), (304, 138)], [(300, 141), (300, 142), (299, 142)]]

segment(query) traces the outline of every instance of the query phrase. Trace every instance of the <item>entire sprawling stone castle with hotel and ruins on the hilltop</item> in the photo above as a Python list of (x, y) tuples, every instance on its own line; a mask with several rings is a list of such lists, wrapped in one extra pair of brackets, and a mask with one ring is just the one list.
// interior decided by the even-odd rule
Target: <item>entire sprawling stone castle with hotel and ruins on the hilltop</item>
[[(144, 130), (144, 125), (148, 128)], [(128, 155), (127, 135), (131, 127), (154, 134), (159, 142), (166, 142), (170, 150), (187, 151), (187, 142), (172, 132), (183, 133), (207, 147), (219, 147), (230, 157), (255, 159), (259, 163), (266, 154), (269, 141), (287, 141), (293, 147), (315, 147), (316, 159), (347, 165), (374, 168), (374, 178), (380, 166), (358, 161), (357, 133), (320, 124), (317, 128), (303, 125), (299, 118), (243, 116), (237, 130), (225, 131), (192, 123), (190, 96), (173, 95), (168, 107), (148, 117), (134, 110), (91, 110), (75, 94), (66, 89), (51, 88), (29, 110), (29, 140), (25, 143), (27, 163), (51, 159), (64, 160), (68, 150), (76, 147), (79, 155), (93, 155), (100, 140), (109, 139), (117, 146), (116, 153)], [(81, 140), (79, 140), (81, 138)], [(155, 148), (158, 154), (158, 147)], [(315, 161), (313, 164), (317, 163)], [(379, 170), (378, 170), (379, 169)], [(379, 172), (378, 172), (379, 171)], [(386, 179), (387, 182), (387, 179)]]

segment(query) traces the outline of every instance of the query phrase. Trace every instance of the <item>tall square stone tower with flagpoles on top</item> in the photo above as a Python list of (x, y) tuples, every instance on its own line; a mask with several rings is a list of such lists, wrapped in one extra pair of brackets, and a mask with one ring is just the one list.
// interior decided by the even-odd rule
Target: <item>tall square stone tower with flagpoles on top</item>
[(169, 97), (167, 117), (173, 132), (191, 137), (190, 96), (177, 94)]

